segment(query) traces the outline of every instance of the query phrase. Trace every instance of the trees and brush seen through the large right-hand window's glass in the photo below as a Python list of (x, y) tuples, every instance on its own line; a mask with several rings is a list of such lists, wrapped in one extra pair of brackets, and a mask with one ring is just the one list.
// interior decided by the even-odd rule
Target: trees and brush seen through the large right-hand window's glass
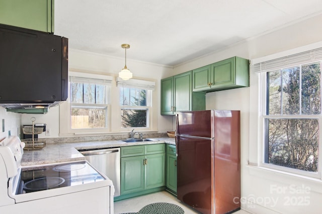
[(317, 172), (320, 62), (267, 72), (264, 162)]

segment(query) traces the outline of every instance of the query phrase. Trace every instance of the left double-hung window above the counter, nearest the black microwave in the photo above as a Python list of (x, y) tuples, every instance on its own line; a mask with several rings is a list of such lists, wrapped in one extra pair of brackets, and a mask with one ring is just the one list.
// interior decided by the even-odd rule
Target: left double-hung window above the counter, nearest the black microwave
[[(68, 119), (60, 133), (108, 132), (113, 77), (69, 72)], [(62, 125), (62, 124), (61, 124)]]

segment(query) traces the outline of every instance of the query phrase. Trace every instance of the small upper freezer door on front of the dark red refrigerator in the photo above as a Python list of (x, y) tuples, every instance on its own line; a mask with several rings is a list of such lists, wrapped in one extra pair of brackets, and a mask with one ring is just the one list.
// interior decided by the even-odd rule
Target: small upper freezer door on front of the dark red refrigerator
[(176, 133), (197, 137), (214, 137), (214, 110), (179, 112)]

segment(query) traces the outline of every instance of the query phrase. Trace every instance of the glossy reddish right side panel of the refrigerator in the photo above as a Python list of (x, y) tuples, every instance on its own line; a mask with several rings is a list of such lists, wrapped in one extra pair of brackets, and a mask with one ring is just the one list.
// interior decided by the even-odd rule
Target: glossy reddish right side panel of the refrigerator
[(215, 111), (215, 213), (240, 208), (240, 112)]

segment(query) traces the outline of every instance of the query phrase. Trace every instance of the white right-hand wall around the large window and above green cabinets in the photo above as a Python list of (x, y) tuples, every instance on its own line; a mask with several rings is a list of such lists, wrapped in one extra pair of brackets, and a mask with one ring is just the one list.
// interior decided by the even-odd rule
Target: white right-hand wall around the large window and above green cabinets
[[(175, 74), (233, 56), (255, 59), (322, 41), (322, 15), (275, 32), (235, 44), (174, 69)], [(248, 165), (257, 159), (257, 80), (251, 70), (250, 87), (206, 95), (207, 109), (241, 111), (241, 206), (253, 213), (320, 213), (322, 182)], [(252, 90), (255, 88), (255, 90)], [(254, 92), (255, 91), (255, 92)], [(254, 123), (255, 121), (255, 123)], [(255, 125), (254, 125), (255, 124)], [(251, 127), (251, 128), (250, 128)], [(255, 201), (255, 203), (254, 203)]]

